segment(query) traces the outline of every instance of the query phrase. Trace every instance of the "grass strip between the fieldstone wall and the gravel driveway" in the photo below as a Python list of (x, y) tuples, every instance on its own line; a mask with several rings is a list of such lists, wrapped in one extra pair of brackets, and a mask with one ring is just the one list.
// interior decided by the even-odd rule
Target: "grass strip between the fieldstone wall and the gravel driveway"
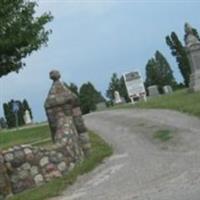
[(58, 196), (64, 189), (73, 184), (79, 175), (88, 173), (112, 154), (112, 148), (103, 139), (91, 131), (89, 134), (92, 143), (91, 155), (82, 163), (75, 166), (68, 175), (54, 179), (40, 187), (17, 194), (9, 198), (9, 200), (45, 200)]

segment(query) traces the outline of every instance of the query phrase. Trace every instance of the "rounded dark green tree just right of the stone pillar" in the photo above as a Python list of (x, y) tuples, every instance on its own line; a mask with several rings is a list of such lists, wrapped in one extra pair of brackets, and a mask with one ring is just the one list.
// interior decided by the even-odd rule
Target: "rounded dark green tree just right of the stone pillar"
[(80, 87), (79, 98), (83, 114), (96, 110), (96, 104), (104, 99), (90, 82)]

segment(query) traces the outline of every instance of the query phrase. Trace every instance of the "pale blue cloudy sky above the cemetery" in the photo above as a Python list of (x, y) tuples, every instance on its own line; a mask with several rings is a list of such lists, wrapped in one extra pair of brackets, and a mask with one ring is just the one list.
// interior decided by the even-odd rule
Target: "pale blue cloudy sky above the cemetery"
[(182, 39), (186, 21), (200, 30), (198, 0), (39, 0), (38, 4), (38, 14), (51, 11), (54, 16), (47, 27), (53, 31), (48, 47), (28, 57), (19, 74), (0, 79), (0, 104), (26, 98), (36, 121), (46, 119), (43, 103), (51, 69), (79, 86), (91, 81), (105, 94), (113, 72), (140, 70), (144, 76), (147, 60), (160, 50), (181, 81), (165, 36), (175, 31)]

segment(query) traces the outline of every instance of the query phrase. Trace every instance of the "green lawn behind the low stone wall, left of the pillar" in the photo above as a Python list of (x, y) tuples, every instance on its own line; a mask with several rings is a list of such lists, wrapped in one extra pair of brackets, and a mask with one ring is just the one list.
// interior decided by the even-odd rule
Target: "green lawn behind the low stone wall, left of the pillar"
[(50, 130), (47, 125), (0, 132), (0, 148), (7, 149), (18, 144), (39, 143), (50, 139)]

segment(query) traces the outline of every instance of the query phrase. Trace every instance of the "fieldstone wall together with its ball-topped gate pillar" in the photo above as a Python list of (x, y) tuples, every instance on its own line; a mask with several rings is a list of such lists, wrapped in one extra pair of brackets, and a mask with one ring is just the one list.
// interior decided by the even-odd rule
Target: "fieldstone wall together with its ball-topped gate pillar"
[(52, 87), (45, 110), (54, 145), (51, 149), (31, 145), (0, 151), (0, 200), (67, 174), (90, 153), (78, 97), (50, 72)]

